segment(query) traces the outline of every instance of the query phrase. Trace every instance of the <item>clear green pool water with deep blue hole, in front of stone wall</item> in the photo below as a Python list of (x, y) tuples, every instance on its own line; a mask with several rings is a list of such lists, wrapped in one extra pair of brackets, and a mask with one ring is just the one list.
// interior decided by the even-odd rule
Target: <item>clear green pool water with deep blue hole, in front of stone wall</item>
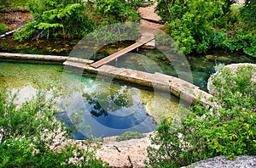
[[(44, 89), (55, 98), (57, 116), (79, 126), (78, 139), (91, 132), (96, 137), (126, 131), (152, 132), (162, 116), (177, 113), (179, 99), (166, 92), (108, 82), (90, 74), (80, 76), (55, 64), (0, 62), (0, 84), (18, 92), (17, 104)], [(90, 126), (90, 130), (85, 126)]]

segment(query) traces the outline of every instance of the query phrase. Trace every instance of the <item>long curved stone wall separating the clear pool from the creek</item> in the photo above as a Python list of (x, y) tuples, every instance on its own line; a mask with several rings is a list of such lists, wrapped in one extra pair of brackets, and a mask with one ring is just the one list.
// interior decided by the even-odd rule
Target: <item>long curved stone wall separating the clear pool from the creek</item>
[(172, 92), (177, 97), (191, 103), (200, 102), (203, 105), (212, 105), (208, 99), (212, 97), (211, 94), (204, 92), (188, 81), (183, 81), (174, 76), (167, 76), (161, 73), (150, 74), (139, 70), (130, 70), (125, 68), (117, 68), (111, 65), (104, 64), (96, 69), (90, 66), (92, 63), (88, 59), (71, 58), (65, 56), (55, 55), (32, 55), (22, 53), (0, 53), (0, 59), (23, 59), (23, 60), (39, 60), (39, 61), (53, 61), (61, 64), (73, 66), (85, 71), (97, 73), (102, 76), (112, 76), (122, 81), (129, 81), (139, 85), (154, 87), (166, 92)]

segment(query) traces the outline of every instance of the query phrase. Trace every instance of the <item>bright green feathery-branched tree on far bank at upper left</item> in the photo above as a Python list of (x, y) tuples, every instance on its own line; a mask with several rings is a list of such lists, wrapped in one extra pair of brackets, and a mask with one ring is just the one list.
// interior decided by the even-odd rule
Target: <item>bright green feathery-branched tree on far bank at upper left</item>
[(28, 9), (34, 22), (15, 33), (15, 39), (38, 40), (41, 37), (83, 37), (95, 26), (88, 18), (83, 1), (28, 0)]

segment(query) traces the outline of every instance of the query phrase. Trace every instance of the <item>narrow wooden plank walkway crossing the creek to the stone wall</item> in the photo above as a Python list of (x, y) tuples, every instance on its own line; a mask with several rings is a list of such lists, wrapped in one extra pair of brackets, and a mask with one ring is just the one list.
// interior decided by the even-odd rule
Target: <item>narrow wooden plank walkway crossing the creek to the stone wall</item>
[(121, 56), (125, 53), (128, 53), (131, 50), (141, 47), (144, 44), (146, 44), (147, 42), (152, 41), (153, 39), (154, 39), (154, 36), (143, 36), (143, 39), (141, 41), (136, 42), (136, 43), (132, 44), (131, 46), (120, 50), (117, 53), (113, 53), (113, 54), (109, 55), (108, 57), (101, 59), (93, 64), (90, 64), (90, 66), (93, 68), (99, 68), (103, 64), (107, 64), (108, 62), (112, 61), (113, 59), (117, 59), (119, 56)]

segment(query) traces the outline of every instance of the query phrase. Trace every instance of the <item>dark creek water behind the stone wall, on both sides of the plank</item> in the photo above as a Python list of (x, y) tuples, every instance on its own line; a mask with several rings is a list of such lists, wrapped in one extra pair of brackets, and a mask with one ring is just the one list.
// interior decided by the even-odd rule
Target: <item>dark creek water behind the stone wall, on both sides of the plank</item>
[[(63, 39), (50, 39), (19, 43), (11, 39), (0, 39), (0, 52), (69, 55), (70, 51), (78, 42), (79, 40), (66, 41)], [(120, 49), (131, 45), (132, 43), (134, 42), (127, 41), (109, 44), (99, 49), (96, 56), (93, 57), (87, 57), (84, 55), (84, 48), (82, 48), (81, 55), (79, 55), (79, 51), (77, 51), (76, 57), (98, 60), (108, 56), (109, 54), (115, 53)], [(161, 46), (158, 48), (161, 48)], [(133, 70), (143, 70), (151, 73), (158, 71), (166, 75), (177, 76), (177, 71), (172, 66), (172, 62), (169, 59), (166, 59), (166, 56), (163, 53), (160, 53), (159, 50), (140, 48), (139, 53), (137, 53), (137, 55), (135, 53), (137, 52), (132, 51), (132, 53), (119, 57), (117, 62), (113, 61), (110, 64)], [(139, 54), (142, 54), (146, 58), (139, 57)], [(186, 57), (192, 71), (193, 83), (205, 91), (207, 91), (207, 80), (210, 75), (215, 72), (216, 65), (234, 63), (256, 64), (256, 58), (249, 57), (242, 53), (224, 53), (221, 51), (212, 51), (210, 54), (189, 55)], [(158, 67), (156, 67), (155, 64), (157, 64)]]

